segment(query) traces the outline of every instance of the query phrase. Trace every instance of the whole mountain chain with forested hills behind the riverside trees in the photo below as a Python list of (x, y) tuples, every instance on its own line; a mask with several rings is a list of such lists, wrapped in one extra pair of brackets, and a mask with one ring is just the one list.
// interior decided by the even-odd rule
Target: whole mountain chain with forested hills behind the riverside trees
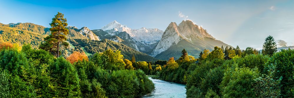
[[(138, 61), (156, 61), (170, 57), (178, 59), (184, 48), (188, 54), (198, 57), (202, 50), (212, 51), (214, 46), (232, 47), (215, 39), (191, 20), (182, 21), (179, 25), (171, 22), (165, 31), (144, 27), (131, 29), (117, 21), (94, 30), (87, 27), (78, 29), (75, 26), (67, 28), (70, 47), (63, 51), (65, 56), (73, 51), (84, 51), (87, 55), (92, 55), (113, 49), (121, 50), (126, 59), (131, 59), (134, 55)], [(49, 34), (49, 28), (32, 23), (0, 23), (0, 40), (11, 43), (31, 44), (37, 48)]]

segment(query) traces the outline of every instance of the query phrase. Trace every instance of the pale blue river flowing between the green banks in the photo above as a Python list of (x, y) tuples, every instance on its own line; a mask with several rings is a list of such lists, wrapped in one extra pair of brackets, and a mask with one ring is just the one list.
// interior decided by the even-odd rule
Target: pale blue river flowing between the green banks
[(173, 82), (166, 82), (159, 79), (150, 80), (155, 84), (155, 90), (148, 95), (141, 98), (185, 98), (186, 89), (184, 84), (178, 84)]

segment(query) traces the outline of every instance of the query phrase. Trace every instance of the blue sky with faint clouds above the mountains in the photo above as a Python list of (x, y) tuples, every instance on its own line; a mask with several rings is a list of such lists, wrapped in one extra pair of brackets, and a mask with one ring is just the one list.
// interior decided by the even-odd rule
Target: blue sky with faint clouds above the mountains
[[(69, 26), (101, 29), (116, 20), (132, 29), (158, 28), (190, 19), (217, 40), (262, 49), (271, 35), (294, 46), (294, 0), (0, 0), (0, 23), (49, 27), (57, 12)], [(281, 42), (281, 43), (280, 43)]]

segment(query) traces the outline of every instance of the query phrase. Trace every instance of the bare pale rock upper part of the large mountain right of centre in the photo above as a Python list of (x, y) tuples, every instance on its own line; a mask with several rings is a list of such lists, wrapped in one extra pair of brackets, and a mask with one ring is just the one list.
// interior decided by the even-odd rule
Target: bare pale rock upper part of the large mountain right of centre
[(206, 37), (212, 38), (212, 40), (216, 40), (214, 37), (208, 34), (205, 29), (194, 24), (191, 20), (183, 20), (179, 25), (177, 25), (175, 22), (171, 22), (163, 33), (159, 43), (150, 55), (155, 57), (157, 54), (166, 51), (171, 46), (176, 45), (183, 39), (188, 43), (194, 44), (197, 43), (195, 40), (204, 41)]

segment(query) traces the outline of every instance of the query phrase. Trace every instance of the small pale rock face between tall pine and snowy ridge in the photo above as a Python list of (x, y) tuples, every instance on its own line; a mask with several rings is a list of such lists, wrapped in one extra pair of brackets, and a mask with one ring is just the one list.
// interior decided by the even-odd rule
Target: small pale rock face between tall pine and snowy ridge
[(89, 28), (87, 27), (82, 27), (79, 31), (80, 34), (83, 36), (87, 37), (88, 39), (95, 40), (95, 41), (100, 41), (99, 37), (94, 34)]

